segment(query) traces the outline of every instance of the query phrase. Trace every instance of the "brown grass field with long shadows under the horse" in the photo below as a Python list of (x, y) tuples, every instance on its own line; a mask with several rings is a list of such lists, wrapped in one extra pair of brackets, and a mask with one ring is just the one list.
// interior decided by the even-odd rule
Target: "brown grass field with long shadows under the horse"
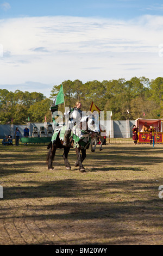
[(0, 145), (0, 245), (162, 245), (163, 145), (114, 140), (87, 150), (86, 172), (58, 150)]

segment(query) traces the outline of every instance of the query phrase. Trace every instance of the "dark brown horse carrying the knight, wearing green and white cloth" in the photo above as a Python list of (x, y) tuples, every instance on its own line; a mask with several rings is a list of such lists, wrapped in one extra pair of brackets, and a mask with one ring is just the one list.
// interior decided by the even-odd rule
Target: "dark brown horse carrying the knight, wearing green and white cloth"
[[(92, 124), (93, 124), (93, 121), (92, 121)], [(83, 127), (82, 125), (83, 125), (83, 122), (81, 121), (80, 123), (81, 130)], [(76, 154), (77, 154), (77, 161), (74, 163), (74, 166), (76, 167), (79, 166), (80, 172), (85, 172), (83, 161), (86, 157), (86, 149), (89, 149), (89, 146), (91, 145), (92, 152), (95, 151), (97, 143), (94, 143), (93, 145), (93, 142), (97, 142), (97, 137), (99, 136), (100, 131), (99, 131), (99, 128), (97, 128), (97, 126), (96, 126), (97, 130), (90, 131), (87, 126), (87, 120), (86, 120), (86, 125), (84, 125), (84, 127), (86, 127), (85, 134), (87, 136), (87, 142), (79, 141), (77, 142), (77, 144), (75, 144), (72, 136), (70, 137), (70, 142), (68, 144), (68, 147), (64, 146), (63, 145), (64, 141), (60, 139), (61, 131), (59, 131), (56, 139), (54, 141), (51, 141), (51, 143), (49, 143), (47, 147), (47, 149), (49, 149), (47, 154), (47, 164), (48, 164), (49, 170), (53, 169), (53, 161), (54, 161), (55, 152), (57, 149), (64, 149), (64, 154), (62, 155), (62, 157), (64, 158), (66, 169), (71, 170), (70, 163), (68, 162), (68, 153), (70, 151), (70, 148), (75, 148)]]

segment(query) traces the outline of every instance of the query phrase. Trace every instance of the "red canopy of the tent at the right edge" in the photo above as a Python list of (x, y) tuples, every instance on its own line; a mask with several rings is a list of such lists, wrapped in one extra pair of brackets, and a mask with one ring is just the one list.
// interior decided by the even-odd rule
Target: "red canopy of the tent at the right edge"
[(145, 123), (147, 123), (147, 126), (154, 126), (155, 130), (158, 132), (162, 132), (162, 125), (161, 125), (161, 121), (163, 121), (163, 118), (161, 119), (143, 119), (143, 118), (137, 118), (135, 120), (135, 125), (136, 127), (139, 126), (139, 132), (142, 131), (142, 126), (145, 125)]

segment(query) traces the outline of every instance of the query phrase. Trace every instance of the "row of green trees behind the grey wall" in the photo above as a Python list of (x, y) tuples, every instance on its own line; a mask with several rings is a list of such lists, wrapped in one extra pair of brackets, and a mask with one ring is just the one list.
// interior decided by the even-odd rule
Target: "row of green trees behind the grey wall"
[[(146, 77), (133, 77), (126, 81), (99, 82), (80, 80), (62, 82), (65, 106), (72, 107), (76, 101), (82, 102), (82, 110), (89, 111), (91, 102), (101, 111), (112, 111), (112, 119), (157, 119), (163, 117), (163, 77), (149, 80)], [(16, 90), (14, 93), (0, 89), (1, 124), (23, 124), (27, 119), (34, 123), (52, 120), (51, 107), (61, 84), (53, 86), (49, 98), (42, 93), (29, 93)], [(64, 104), (59, 105), (64, 113)]]

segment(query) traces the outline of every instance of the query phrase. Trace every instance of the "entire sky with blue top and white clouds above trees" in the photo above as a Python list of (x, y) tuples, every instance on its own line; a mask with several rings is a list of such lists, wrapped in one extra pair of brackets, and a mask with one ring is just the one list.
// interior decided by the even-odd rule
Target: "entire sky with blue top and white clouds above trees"
[(162, 76), (163, 3), (0, 0), (0, 88)]

